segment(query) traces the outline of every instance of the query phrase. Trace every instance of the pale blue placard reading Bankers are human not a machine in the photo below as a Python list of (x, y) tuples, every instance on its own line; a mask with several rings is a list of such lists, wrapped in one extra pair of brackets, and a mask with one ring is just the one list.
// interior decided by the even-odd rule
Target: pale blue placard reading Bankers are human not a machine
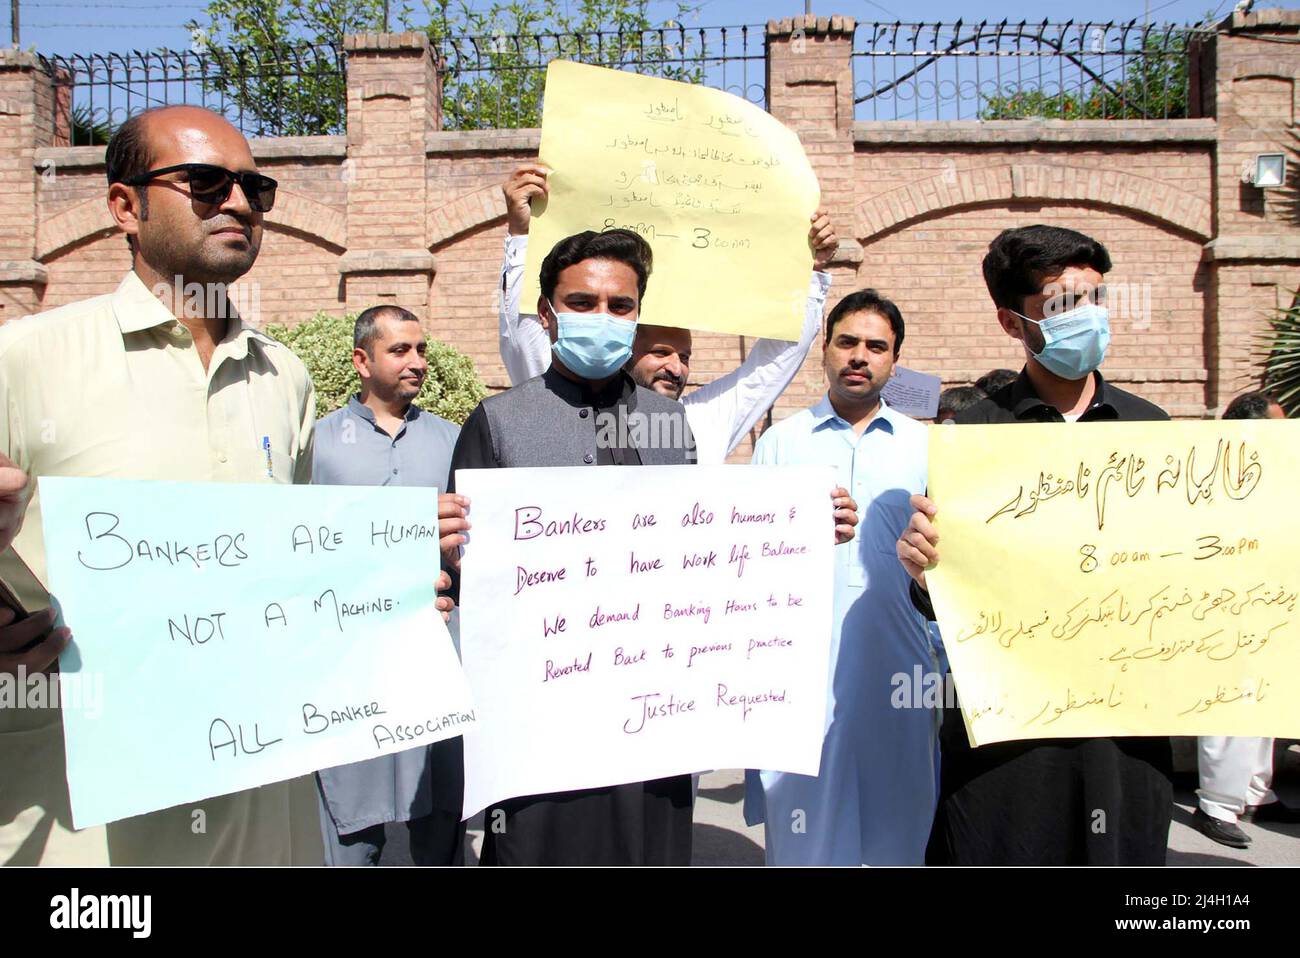
[(75, 827), (473, 727), (434, 489), (42, 478)]

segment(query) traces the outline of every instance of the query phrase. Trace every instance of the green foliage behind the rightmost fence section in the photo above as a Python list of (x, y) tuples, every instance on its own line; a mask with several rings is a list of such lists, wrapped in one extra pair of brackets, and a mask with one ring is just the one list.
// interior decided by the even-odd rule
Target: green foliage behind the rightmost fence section
[(991, 96), (982, 120), (1182, 120), (1187, 116), (1187, 34), (1153, 32), (1141, 55), (1128, 55), (1115, 83), (1092, 81), (1080, 91), (1022, 90)]

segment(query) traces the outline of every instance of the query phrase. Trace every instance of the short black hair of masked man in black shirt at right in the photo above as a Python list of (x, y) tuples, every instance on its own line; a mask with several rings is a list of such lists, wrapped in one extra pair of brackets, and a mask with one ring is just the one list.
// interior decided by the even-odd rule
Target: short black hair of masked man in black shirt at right
[(988, 244), (984, 283), (997, 305), (1022, 312), (1024, 298), (1041, 292), (1044, 278), (1067, 266), (1092, 266), (1105, 274), (1110, 253), (1092, 237), (1063, 226), (1018, 226), (1002, 230)]

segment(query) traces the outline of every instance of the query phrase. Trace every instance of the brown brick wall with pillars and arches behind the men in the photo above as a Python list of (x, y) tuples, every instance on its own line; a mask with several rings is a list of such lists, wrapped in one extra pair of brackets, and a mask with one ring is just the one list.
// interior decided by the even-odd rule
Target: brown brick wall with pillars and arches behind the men
[[(979, 264), (1000, 230), (1046, 222), (1110, 248), (1109, 285), (1128, 294), (1123, 309), (1112, 303), (1110, 380), (1187, 417), (1252, 385), (1254, 339), (1300, 286), (1300, 201), (1295, 178), (1260, 191), (1242, 168), (1258, 152), (1295, 159), (1300, 48), (1262, 38), (1300, 38), (1300, 12), (1225, 21), (1193, 69), (1213, 117), (1180, 121), (854, 123), (853, 21), (796, 18), (767, 34), (770, 109), (800, 134), (841, 237), (832, 303), (863, 286), (892, 296), (907, 320), (905, 364), (949, 385), (1018, 368)], [(439, 130), (421, 35), (354, 36), (347, 52), (346, 136), (254, 142), (282, 183), (246, 279), (259, 318), (400, 303), (504, 389), (499, 185), (537, 155), (538, 131)], [(0, 321), (110, 291), (129, 266), (103, 201), (103, 148), (58, 146), (55, 112), (39, 61), (0, 52)], [(748, 346), (698, 335), (693, 381), (733, 368)], [(822, 390), (814, 348), (774, 419)]]

